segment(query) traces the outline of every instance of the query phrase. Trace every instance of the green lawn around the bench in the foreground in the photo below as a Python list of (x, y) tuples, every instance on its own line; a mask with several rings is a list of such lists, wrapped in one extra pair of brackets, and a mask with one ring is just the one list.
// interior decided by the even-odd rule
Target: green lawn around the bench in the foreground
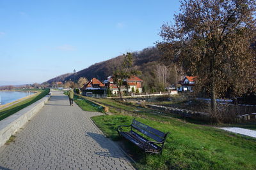
[[(106, 136), (120, 141), (116, 127), (131, 124), (132, 118), (104, 115), (92, 119)], [(138, 169), (256, 169), (256, 139), (176, 118), (146, 115), (136, 119), (160, 131), (170, 132), (163, 154), (140, 157), (135, 164)], [(143, 154), (135, 145), (129, 144), (129, 147), (134, 155)]]

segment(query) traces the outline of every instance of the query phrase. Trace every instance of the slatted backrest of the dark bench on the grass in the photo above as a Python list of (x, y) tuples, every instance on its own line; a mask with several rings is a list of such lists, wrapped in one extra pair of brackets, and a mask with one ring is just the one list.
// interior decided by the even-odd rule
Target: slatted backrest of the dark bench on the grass
[(145, 134), (149, 138), (154, 139), (158, 142), (162, 142), (166, 138), (166, 133), (158, 131), (157, 129), (154, 129), (153, 127), (150, 127), (148, 125), (142, 124), (135, 119), (132, 120), (131, 126), (142, 134)]

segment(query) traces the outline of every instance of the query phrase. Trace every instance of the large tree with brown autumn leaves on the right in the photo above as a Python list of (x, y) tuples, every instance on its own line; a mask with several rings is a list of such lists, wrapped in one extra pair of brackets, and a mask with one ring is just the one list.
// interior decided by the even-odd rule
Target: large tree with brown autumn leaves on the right
[(211, 96), (213, 118), (216, 97), (228, 88), (234, 96), (255, 89), (255, 9), (255, 0), (185, 0), (175, 24), (161, 27), (157, 47), (165, 60), (197, 76), (197, 90)]

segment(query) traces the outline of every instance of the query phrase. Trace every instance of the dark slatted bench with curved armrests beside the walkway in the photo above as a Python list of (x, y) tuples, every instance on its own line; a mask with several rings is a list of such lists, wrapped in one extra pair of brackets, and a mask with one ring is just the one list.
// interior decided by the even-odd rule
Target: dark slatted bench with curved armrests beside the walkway
[[(131, 130), (129, 132), (123, 132), (122, 127), (131, 127)], [(139, 146), (145, 153), (162, 153), (166, 136), (169, 133), (164, 133), (149, 127), (148, 125), (142, 124), (135, 120), (135, 118), (132, 120), (131, 125), (118, 126), (117, 132), (120, 136), (124, 136), (124, 138)], [(138, 134), (138, 132), (144, 134), (150, 138), (150, 140), (144, 138)]]

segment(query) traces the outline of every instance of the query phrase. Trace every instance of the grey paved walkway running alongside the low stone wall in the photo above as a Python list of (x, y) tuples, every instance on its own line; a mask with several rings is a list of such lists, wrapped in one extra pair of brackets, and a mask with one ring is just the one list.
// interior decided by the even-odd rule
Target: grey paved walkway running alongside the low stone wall
[(15, 142), (0, 148), (0, 169), (134, 169), (91, 122), (100, 114), (69, 106), (67, 96), (53, 93)]

